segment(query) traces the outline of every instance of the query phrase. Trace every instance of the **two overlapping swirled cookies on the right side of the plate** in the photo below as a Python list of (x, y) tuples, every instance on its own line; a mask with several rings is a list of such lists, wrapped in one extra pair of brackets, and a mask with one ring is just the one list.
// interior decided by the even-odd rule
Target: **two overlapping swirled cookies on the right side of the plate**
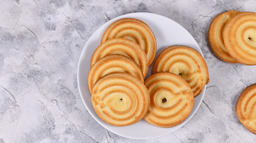
[(144, 119), (159, 127), (183, 122), (209, 82), (207, 65), (201, 54), (187, 46), (165, 48), (153, 63), (145, 81), (151, 104)]

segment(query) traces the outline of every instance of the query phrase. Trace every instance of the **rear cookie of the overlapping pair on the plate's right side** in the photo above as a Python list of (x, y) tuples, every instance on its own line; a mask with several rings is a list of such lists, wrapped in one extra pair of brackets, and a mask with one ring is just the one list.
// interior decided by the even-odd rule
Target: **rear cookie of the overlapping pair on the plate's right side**
[(172, 72), (180, 75), (198, 96), (209, 82), (209, 73), (203, 56), (187, 46), (170, 46), (164, 49), (153, 63), (151, 73)]

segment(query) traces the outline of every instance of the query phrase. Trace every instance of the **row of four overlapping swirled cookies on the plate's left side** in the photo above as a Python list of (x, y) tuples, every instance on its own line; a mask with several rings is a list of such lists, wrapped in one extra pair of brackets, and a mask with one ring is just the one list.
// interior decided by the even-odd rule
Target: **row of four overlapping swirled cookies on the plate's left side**
[(144, 85), (156, 55), (156, 38), (147, 24), (124, 18), (110, 24), (91, 58), (88, 88), (97, 115), (115, 126), (146, 115), (150, 97)]

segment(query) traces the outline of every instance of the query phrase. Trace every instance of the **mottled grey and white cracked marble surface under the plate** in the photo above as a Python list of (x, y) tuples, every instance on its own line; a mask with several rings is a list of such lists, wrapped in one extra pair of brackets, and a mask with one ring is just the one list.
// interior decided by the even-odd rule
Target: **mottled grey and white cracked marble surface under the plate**
[[(0, 143), (256, 142), (235, 114), (256, 66), (218, 59), (207, 40), (211, 19), (253, 11), (255, 0), (2, 0), (0, 4)], [(86, 110), (77, 87), (80, 53), (107, 21), (150, 12), (181, 24), (198, 42), (210, 82), (198, 111), (177, 131), (135, 140), (109, 132)]]

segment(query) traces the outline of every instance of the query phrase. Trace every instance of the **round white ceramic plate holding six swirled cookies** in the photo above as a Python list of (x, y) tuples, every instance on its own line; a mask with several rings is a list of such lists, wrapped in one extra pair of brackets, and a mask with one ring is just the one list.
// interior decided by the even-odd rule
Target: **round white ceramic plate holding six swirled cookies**
[[(82, 53), (79, 58), (78, 62), (78, 69), (77, 69), (77, 82), (78, 82), (78, 89), (83, 100), (84, 105), (86, 106), (89, 113), (93, 116), (93, 118), (104, 128), (107, 130), (127, 138), (133, 139), (151, 139), (157, 138), (163, 135), (167, 135), (172, 133), (173, 131), (182, 127), (189, 119), (193, 117), (196, 113), (200, 103), (202, 102), (203, 95), (205, 92), (206, 86), (203, 88), (203, 91), (200, 95), (195, 98), (194, 107), (185, 121), (183, 121), (180, 125), (177, 125), (172, 128), (160, 128), (154, 125), (147, 123), (145, 120), (141, 120), (136, 124), (125, 126), (125, 127), (116, 127), (112, 126), (102, 119), (100, 119), (96, 112), (94, 111), (92, 102), (91, 102), (91, 94), (88, 90), (87, 86), (87, 76), (90, 70), (90, 61), (91, 56), (94, 50), (100, 44), (100, 40), (102, 37), (103, 32), (105, 29), (112, 24), (113, 22), (117, 21), (121, 18), (137, 18), (139, 20), (144, 21), (148, 26), (151, 28), (153, 33), (155, 34), (157, 40), (157, 54), (156, 56), (166, 47), (171, 45), (184, 45), (189, 46), (196, 49), (198, 52), (203, 55), (199, 45), (197, 44), (196, 40), (190, 35), (190, 33), (183, 28), (180, 24), (176, 23), (175, 21), (153, 13), (129, 13), (125, 15), (118, 16), (104, 25), (102, 25), (99, 29), (95, 31), (95, 33), (90, 37), (90, 39), (85, 44)], [(151, 73), (151, 66), (149, 67), (147, 77)]]

